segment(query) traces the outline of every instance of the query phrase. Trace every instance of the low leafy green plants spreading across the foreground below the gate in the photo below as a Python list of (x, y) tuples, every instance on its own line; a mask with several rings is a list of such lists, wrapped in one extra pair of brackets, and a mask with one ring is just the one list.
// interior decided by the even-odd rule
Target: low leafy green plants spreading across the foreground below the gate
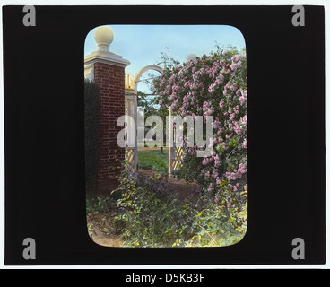
[(216, 203), (203, 194), (182, 201), (175, 193), (157, 188), (159, 185), (159, 174), (136, 181), (124, 171), (118, 188), (122, 196), (117, 200), (115, 219), (122, 223), (125, 246), (227, 246), (244, 236), (246, 204), (242, 209), (239, 200), (235, 203), (230, 199), (232, 204), (228, 205), (225, 198)]

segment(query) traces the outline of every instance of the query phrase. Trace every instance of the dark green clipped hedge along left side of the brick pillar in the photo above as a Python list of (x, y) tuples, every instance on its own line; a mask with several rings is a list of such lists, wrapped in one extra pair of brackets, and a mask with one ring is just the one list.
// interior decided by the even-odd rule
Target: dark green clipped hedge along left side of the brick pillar
[(91, 193), (100, 164), (100, 97), (93, 81), (85, 79), (84, 88), (86, 191)]

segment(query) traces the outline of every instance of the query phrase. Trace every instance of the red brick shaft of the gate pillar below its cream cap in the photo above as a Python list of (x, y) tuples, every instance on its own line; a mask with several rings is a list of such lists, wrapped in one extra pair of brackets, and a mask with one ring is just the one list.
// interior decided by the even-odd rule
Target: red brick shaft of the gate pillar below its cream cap
[(118, 180), (115, 177), (120, 170), (111, 167), (117, 167), (125, 158), (125, 149), (117, 144), (117, 134), (123, 129), (117, 126), (117, 119), (125, 114), (125, 68), (95, 63), (94, 79), (99, 87), (101, 105), (100, 170), (97, 184), (99, 192), (105, 192), (117, 187)]

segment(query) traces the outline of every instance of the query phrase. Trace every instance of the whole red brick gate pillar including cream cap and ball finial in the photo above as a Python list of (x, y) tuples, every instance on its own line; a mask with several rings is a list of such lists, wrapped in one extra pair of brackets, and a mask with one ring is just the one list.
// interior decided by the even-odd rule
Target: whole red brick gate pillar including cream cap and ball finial
[(125, 159), (125, 148), (117, 144), (117, 134), (124, 127), (117, 126), (117, 119), (125, 114), (125, 67), (129, 62), (107, 50), (107, 42), (110, 44), (113, 39), (110, 31), (106, 27), (95, 31), (94, 38), (99, 50), (85, 57), (85, 67), (91, 69), (89, 77), (94, 79), (100, 94), (100, 169), (96, 178), (98, 192), (107, 192), (118, 186), (116, 176), (120, 170), (117, 166)]

